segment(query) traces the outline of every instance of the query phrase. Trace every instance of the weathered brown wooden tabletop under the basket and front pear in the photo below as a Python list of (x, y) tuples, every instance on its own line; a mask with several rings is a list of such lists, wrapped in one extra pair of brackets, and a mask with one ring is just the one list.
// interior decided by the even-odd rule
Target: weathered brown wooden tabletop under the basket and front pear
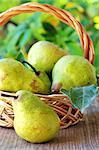
[(46, 144), (31, 144), (13, 129), (0, 127), (0, 150), (99, 150), (99, 99), (85, 112), (85, 121), (61, 130)]

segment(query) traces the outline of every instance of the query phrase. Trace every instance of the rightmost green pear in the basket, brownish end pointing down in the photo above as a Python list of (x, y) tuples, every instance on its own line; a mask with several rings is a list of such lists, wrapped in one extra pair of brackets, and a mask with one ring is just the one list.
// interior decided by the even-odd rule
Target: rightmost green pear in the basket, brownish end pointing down
[(61, 88), (69, 90), (77, 86), (96, 84), (95, 68), (81, 56), (64, 56), (52, 71), (52, 91), (57, 93)]

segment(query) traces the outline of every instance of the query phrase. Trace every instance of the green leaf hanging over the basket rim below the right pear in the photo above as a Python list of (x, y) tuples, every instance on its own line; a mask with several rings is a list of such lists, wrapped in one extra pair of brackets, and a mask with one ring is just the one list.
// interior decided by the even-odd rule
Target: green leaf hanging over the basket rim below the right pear
[(99, 89), (95, 85), (71, 88), (70, 90), (61, 89), (61, 93), (67, 95), (74, 107), (79, 108), (81, 112), (84, 112), (96, 96), (99, 95)]

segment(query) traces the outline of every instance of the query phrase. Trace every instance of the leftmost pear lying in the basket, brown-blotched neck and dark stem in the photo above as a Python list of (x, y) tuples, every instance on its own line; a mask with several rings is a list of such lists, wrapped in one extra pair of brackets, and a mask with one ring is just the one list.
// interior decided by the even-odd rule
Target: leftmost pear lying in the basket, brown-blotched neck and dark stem
[(0, 60), (0, 90), (16, 92), (23, 89), (48, 94), (50, 86), (46, 73), (33, 72), (21, 62), (11, 58)]

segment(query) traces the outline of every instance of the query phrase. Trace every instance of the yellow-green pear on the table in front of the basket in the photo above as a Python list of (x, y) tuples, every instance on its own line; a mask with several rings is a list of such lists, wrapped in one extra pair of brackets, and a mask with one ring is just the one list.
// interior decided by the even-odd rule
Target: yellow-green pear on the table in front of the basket
[(30, 91), (18, 91), (12, 105), (14, 129), (21, 138), (32, 143), (42, 143), (53, 139), (58, 133), (58, 115)]

